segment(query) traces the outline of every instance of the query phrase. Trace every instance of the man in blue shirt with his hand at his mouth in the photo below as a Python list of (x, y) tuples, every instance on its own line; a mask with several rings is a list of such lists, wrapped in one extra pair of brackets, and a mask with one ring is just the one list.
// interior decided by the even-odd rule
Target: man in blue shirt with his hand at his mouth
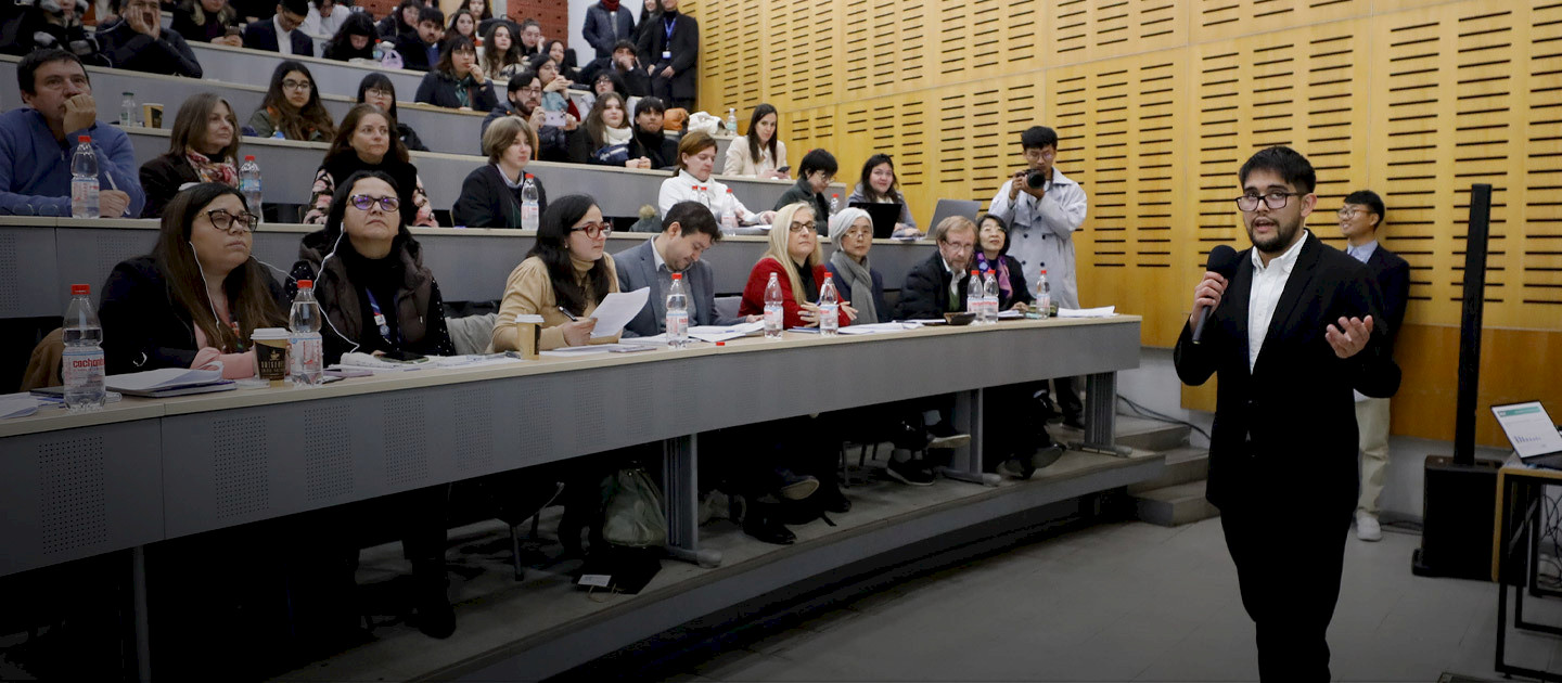
[(64, 50), (22, 58), (19, 109), (0, 114), (0, 215), (70, 215), (70, 157), (81, 136), (98, 164), (98, 215), (141, 215), (145, 195), (125, 131), (97, 120), (92, 83)]

